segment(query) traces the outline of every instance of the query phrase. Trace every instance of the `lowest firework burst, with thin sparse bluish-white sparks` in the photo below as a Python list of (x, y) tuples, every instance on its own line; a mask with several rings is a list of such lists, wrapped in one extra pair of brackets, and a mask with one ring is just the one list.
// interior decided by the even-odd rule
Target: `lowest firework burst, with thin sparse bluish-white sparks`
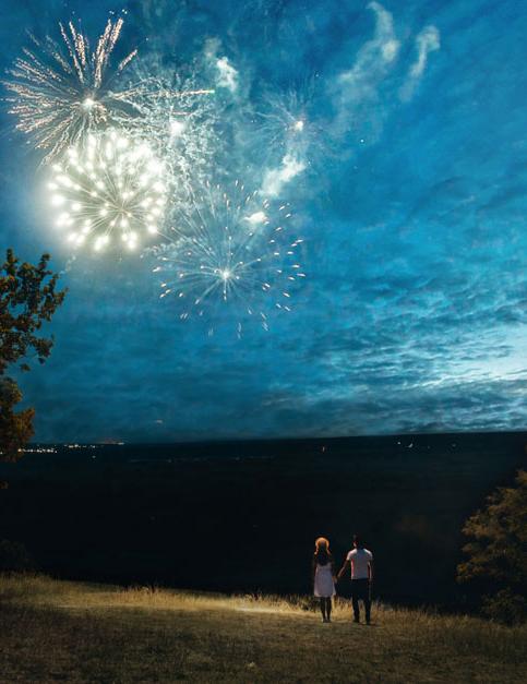
[(301, 239), (288, 236), (287, 205), (275, 207), (240, 182), (232, 192), (206, 184), (181, 218), (173, 242), (156, 250), (161, 298), (181, 304), (180, 317), (230, 305), (268, 328), (270, 309), (291, 310), (291, 288), (306, 277), (298, 263)]

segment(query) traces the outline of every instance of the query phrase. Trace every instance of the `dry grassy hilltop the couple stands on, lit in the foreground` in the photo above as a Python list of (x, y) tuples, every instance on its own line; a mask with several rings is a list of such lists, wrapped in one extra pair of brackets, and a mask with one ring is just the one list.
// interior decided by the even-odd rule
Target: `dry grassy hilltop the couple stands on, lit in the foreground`
[(527, 626), (0, 576), (2, 682), (525, 682)]

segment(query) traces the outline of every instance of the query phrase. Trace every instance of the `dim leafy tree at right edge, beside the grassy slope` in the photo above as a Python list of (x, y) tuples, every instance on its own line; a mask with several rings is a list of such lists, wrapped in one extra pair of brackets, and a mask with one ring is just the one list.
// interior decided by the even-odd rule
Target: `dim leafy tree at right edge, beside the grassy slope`
[(518, 471), (515, 487), (491, 494), (463, 533), (470, 541), (463, 547), (468, 560), (457, 566), (458, 581), (477, 583), (487, 593), (487, 614), (503, 622), (527, 617), (527, 471)]

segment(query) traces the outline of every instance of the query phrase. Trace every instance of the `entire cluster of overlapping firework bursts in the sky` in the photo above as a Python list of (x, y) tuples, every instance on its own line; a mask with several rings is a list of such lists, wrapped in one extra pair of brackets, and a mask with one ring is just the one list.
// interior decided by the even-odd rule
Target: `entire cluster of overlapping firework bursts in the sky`
[[(59, 24), (61, 39), (32, 38), (4, 82), (16, 128), (50, 167), (55, 224), (73, 249), (96, 252), (156, 237), (161, 298), (175, 299), (182, 320), (206, 311), (233, 317), (239, 333), (247, 316), (267, 329), (271, 311), (290, 311), (306, 277), (289, 205), (265, 199), (304, 168), (314, 130), (304, 101), (273, 99), (259, 116), (254, 152), (282, 159), (271, 170), (256, 161), (263, 190), (237, 181), (224, 191), (208, 178), (240, 160), (229, 142), (240, 142), (243, 116), (201, 82), (199, 58), (177, 70), (158, 53), (119, 59), (122, 25), (109, 20), (92, 48), (77, 25)], [(167, 216), (177, 217), (169, 231)]]

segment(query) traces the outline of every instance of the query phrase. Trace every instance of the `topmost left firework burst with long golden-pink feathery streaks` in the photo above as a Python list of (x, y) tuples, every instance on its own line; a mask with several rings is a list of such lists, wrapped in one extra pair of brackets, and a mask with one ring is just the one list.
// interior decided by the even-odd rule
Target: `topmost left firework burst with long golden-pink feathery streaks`
[(112, 67), (122, 24), (108, 20), (94, 50), (72, 22), (59, 24), (62, 43), (32, 37), (33, 49), (15, 60), (4, 82), (9, 111), (35, 147), (47, 152), (45, 160), (111, 123), (116, 111), (133, 108), (137, 87), (123, 88), (119, 81), (136, 50)]

